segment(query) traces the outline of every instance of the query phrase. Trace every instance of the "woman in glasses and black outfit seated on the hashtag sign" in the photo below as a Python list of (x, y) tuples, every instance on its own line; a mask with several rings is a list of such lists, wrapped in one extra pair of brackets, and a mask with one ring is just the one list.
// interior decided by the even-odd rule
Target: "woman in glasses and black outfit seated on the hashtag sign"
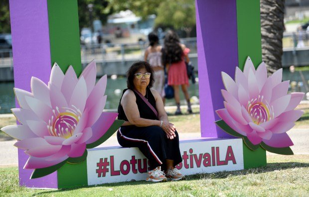
[[(138, 147), (149, 159), (146, 181), (175, 181), (184, 176), (175, 168), (182, 161), (175, 126), (168, 121), (163, 101), (151, 90), (154, 71), (147, 62), (134, 63), (127, 73), (128, 89), (118, 106), (118, 119), (125, 123), (117, 132), (123, 147)], [(163, 173), (162, 170), (165, 170)]]

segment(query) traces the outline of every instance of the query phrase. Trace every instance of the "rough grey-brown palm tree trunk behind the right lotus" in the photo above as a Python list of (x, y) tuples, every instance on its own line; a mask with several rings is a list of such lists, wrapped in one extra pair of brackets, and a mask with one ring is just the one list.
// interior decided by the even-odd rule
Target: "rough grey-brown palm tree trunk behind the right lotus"
[(282, 68), (285, 0), (260, 0), (262, 59), (271, 75)]

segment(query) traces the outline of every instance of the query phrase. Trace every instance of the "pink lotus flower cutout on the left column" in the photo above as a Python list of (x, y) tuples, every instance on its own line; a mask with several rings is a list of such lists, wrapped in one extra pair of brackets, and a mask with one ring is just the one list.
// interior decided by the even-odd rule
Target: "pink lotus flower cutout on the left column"
[(103, 112), (106, 82), (103, 76), (96, 84), (94, 61), (79, 78), (72, 66), (63, 74), (55, 63), (48, 86), (32, 77), (31, 93), (14, 89), (21, 108), (12, 112), (22, 125), (1, 130), (20, 140), (14, 146), (25, 149), (30, 156), (25, 169), (47, 168), (81, 157), (87, 151), (86, 145), (90, 148), (97, 144), (118, 115)]

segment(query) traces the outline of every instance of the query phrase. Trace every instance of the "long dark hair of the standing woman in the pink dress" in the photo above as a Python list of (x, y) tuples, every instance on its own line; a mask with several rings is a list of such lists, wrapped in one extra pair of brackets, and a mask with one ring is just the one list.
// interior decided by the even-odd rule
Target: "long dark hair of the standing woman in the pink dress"
[(171, 30), (167, 31), (162, 52), (162, 63), (164, 65), (181, 61), (183, 51), (176, 32)]

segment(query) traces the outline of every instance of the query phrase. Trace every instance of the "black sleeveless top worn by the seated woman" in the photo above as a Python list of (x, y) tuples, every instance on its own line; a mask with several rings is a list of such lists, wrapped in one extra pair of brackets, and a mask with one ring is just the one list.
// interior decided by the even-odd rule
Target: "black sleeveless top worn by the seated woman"
[[(123, 91), (122, 96), (121, 96), (120, 101), (119, 101), (119, 105), (118, 105), (118, 119), (119, 120), (125, 120), (125, 121), (128, 121), (128, 118), (125, 114), (124, 108), (121, 105), (121, 99), (122, 99), (122, 97), (124, 96), (124, 93), (127, 90), (128, 89), (125, 89)], [(145, 98), (148, 98), (148, 101), (156, 109), (154, 95), (152, 94), (151, 90), (148, 87), (147, 87), (146, 91), (147, 91), (147, 93), (145, 95)], [(135, 94), (136, 103), (137, 103), (139, 111), (140, 111), (140, 117), (145, 118), (145, 119), (157, 120), (157, 117), (154, 114), (154, 111), (146, 104), (146, 102), (135, 91), (133, 91), (133, 92)]]

